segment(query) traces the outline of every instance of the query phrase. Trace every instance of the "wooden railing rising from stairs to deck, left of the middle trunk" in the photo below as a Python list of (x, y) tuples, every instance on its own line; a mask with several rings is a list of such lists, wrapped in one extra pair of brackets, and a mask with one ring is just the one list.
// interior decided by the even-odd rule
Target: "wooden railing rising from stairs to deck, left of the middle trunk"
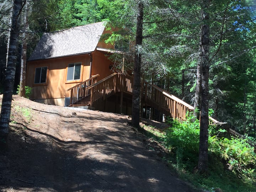
[(89, 86), (86, 90), (91, 93), (91, 106), (105, 100), (106, 98), (114, 95), (116, 92), (126, 92), (132, 94), (133, 77), (119, 73), (112, 75), (98, 81), (97, 83)]

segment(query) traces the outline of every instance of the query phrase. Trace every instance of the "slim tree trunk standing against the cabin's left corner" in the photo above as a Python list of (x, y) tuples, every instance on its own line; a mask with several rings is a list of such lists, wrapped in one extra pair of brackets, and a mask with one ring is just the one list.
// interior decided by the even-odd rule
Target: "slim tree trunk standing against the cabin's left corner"
[(25, 92), (25, 83), (26, 83), (26, 62), (27, 62), (27, 39), (26, 39), (26, 30), (28, 27), (27, 20), (27, 4), (25, 5), (25, 13), (24, 13), (24, 29), (22, 36), (22, 55), (21, 55), (21, 75), (20, 75), (20, 91), (19, 96), (26, 97)]

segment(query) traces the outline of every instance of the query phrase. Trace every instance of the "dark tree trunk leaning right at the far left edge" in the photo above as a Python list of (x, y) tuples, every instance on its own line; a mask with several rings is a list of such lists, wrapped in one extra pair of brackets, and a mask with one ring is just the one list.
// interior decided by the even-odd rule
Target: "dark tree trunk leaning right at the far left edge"
[(15, 69), (17, 62), (18, 37), (20, 32), (20, 13), (22, 10), (22, 0), (14, 0), (13, 14), (10, 27), (10, 43), (7, 67), (4, 80), (4, 94), (0, 113), (0, 144), (5, 145), (9, 133), (9, 121), (11, 114), (12, 91), (15, 79)]

